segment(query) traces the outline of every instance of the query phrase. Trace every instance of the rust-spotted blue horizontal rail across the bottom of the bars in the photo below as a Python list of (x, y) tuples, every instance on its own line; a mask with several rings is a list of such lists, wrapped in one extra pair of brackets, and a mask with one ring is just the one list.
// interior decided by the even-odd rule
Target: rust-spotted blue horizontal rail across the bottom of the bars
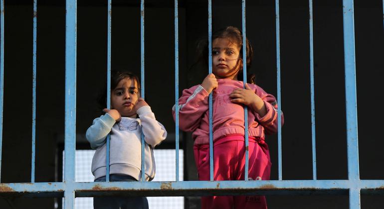
[[(71, 188), (77, 193), (86, 191), (154, 191), (159, 196), (165, 192), (186, 193), (193, 191), (311, 191), (361, 189), (367, 192), (384, 192), (384, 180), (271, 180), (271, 181), (179, 181), (179, 182), (48, 182), (48, 183), (1, 183), (0, 195), (5, 193), (62, 192)], [(176, 194), (176, 193), (175, 193)], [(271, 194), (271, 193), (270, 193)], [(177, 195), (178, 196), (178, 195)]]

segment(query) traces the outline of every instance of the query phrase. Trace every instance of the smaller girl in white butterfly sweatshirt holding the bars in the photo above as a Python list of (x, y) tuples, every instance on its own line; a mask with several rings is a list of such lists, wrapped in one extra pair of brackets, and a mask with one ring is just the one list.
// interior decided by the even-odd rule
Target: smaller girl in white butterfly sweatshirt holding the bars
[[(131, 73), (112, 75), (111, 109), (103, 109), (105, 114), (94, 119), (86, 132), (92, 149), (96, 149), (92, 159), (95, 182), (105, 182), (108, 133), (111, 137), (110, 181), (141, 180), (142, 132), (145, 136), (145, 180), (155, 177), (153, 148), (167, 137), (167, 131), (156, 120), (151, 107), (140, 98), (139, 84), (139, 79)], [(94, 198), (93, 205), (95, 209), (148, 209), (145, 197)]]

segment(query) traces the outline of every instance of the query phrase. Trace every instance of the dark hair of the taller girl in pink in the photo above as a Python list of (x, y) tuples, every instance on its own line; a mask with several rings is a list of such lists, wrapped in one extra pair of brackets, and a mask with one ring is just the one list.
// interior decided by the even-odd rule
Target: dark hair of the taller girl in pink
[[(226, 38), (229, 39), (229, 41), (232, 44), (235, 44), (239, 47), (239, 58), (243, 60), (243, 35), (242, 32), (237, 28), (233, 26), (226, 26), (218, 31), (215, 31), (212, 34), (212, 41), (216, 38)], [(202, 40), (197, 45), (197, 50), (199, 53), (199, 60), (204, 60), (206, 64), (208, 64), (208, 40)], [(251, 46), (251, 43), (248, 39), (246, 39), (246, 65), (247, 69), (251, 67), (252, 63), (252, 56), (253, 56), (253, 49)], [(211, 52), (210, 52), (211, 53)], [(243, 62), (240, 62), (240, 71), (237, 74), (237, 80), (243, 81)], [(255, 78), (256, 76), (251, 73), (247, 73), (247, 83), (255, 84)]]

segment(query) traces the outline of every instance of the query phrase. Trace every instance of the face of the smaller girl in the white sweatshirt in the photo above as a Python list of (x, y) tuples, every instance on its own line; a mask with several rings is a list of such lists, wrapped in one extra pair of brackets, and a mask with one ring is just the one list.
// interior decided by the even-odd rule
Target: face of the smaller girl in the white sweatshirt
[(111, 108), (119, 111), (123, 117), (135, 117), (135, 104), (139, 99), (136, 80), (125, 78), (111, 92)]

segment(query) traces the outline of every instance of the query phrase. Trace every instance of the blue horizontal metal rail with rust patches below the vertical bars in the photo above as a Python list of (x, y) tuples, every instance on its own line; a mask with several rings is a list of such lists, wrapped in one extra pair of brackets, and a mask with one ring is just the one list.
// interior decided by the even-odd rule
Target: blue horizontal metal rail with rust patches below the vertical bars
[(68, 186), (76, 197), (114, 196), (219, 196), (219, 195), (383, 195), (384, 180), (271, 180), (179, 182), (51, 182), (0, 184), (0, 196), (63, 197)]

